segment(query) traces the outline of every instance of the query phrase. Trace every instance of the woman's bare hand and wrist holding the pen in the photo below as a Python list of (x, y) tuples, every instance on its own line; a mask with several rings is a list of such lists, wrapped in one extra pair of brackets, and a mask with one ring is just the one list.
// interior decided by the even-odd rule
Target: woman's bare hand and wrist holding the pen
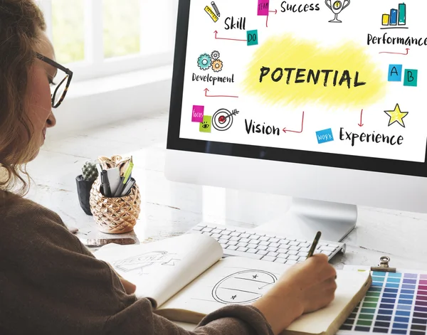
[(326, 255), (314, 255), (285, 272), (253, 306), (264, 314), (273, 332), (279, 334), (302, 314), (332, 302), (337, 289), (336, 275)]

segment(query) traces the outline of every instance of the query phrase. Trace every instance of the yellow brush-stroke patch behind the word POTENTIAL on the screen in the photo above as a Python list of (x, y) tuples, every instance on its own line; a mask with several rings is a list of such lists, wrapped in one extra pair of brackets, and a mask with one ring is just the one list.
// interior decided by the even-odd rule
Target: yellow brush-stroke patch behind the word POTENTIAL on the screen
[[(270, 73), (260, 83), (260, 69), (270, 68)], [(276, 68), (305, 68), (312, 70), (339, 70), (341, 78), (343, 70), (349, 70), (352, 86), (347, 83), (333, 86), (334, 73), (330, 74), (327, 87), (323, 85), (324, 74), (314, 85), (310, 83), (295, 83), (296, 71), (292, 73), (290, 84), (286, 83), (288, 73), (284, 72), (278, 83), (271, 80), (271, 74)], [(359, 72), (359, 82), (364, 86), (354, 87), (354, 75)], [(287, 35), (270, 38), (255, 51), (251, 65), (246, 73), (243, 90), (248, 95), (255, 95), (268, 105), (301, 106), (310, 102), (334, 107), (367, 106), (386, 93), (387, 73), (381, 71), (378, 65), (369, 59), (362, 46), (352, 42), (327, 48), (312, 41), (299, 41)], [(292, 83), (293, 79), (293, 83)]]

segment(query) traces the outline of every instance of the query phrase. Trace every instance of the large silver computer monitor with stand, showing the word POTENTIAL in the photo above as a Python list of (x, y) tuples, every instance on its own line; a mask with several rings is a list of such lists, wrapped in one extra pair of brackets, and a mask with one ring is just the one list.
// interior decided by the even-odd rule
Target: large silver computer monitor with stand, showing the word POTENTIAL
[(261, 227), (342, 240), (427, 213), (427, 1), (179, 1), (166, 175), (292, 196)]

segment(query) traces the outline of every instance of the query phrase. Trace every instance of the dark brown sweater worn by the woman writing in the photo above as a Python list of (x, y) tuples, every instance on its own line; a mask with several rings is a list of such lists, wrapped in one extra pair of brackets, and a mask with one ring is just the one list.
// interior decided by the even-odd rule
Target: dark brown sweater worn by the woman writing
[(153, 314), (47, 208), (0, 191), (0, 334), (268, 334), (255, 307), (228, 306), (194, 332)]

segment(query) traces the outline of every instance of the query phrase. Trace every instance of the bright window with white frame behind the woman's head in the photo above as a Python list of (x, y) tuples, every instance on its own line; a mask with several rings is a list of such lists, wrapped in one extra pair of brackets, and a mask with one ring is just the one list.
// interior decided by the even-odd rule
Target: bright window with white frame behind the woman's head
[(75, 81), (172, 64), (177, 0), (36, 1)]

